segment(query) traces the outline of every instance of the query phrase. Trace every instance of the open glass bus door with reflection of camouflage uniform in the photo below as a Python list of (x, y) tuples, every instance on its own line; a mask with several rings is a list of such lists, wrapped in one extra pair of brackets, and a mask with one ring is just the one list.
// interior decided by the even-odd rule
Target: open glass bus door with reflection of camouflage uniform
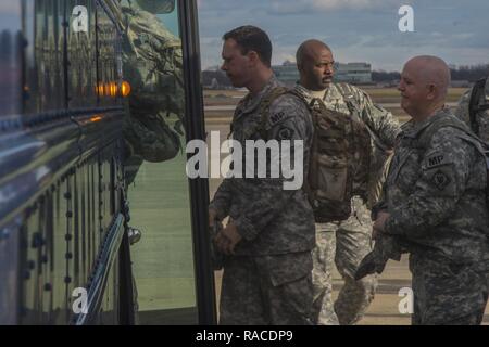
[(215, 322), (208, 181), (186, 175), (204, 139), (195, 1), (121, 1), (123, 125), (138, 324)]

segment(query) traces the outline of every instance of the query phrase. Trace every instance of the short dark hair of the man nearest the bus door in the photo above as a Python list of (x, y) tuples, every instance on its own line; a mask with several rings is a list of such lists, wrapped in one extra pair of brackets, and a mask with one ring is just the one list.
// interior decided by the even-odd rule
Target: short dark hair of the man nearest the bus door
[(241, 54), (254, 51), (263, 64), (267, 67), (272, 66), (272, 42), (262, 29), (252, 25), (240, 26), (224, 34), (223, 40), (228, 39), (234, 39), (238, 43)]

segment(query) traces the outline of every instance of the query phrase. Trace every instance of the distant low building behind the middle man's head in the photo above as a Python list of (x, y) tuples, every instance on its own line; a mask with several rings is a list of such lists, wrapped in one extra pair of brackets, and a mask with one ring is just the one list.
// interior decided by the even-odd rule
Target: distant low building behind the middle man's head
[[(281, 65), (272, 66), (278, 80), (292, 87), (299, 80), (299, 70), (294, 62), (286, 61)], [(372, 65), (367, 63), (335, 63), (335, 81), (352, 85), (372, 83)]]

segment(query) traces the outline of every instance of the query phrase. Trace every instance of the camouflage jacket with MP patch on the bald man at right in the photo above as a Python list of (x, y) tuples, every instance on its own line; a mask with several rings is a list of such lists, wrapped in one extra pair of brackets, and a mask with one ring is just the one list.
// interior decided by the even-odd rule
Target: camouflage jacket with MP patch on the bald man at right
[(438, 129), (427, 146), (419, 146), (425, 130), (443, 117), (454, 118), (446, 108), (402, 127), (385, 185), (390, 214), (385, 232), (408, 240), (411, 253), (478, 261), (488, 252), (485, 158), (453, 127)]

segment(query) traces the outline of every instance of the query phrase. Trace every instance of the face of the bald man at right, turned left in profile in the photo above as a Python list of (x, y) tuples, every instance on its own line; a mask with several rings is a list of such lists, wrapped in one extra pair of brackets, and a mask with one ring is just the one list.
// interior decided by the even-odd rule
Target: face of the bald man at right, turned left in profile
[(401, 107), (411, 116), (422, 115), (429, 102), (429, 89), (419, 70), (417, 62), (408, 62), (398, 87), (401, 92)]

